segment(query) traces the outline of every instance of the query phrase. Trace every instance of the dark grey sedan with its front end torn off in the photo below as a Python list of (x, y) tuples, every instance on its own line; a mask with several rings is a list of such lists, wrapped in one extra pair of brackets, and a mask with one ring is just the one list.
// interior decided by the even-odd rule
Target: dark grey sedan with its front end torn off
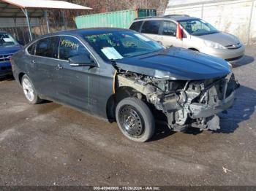
[(219, 128), (237, 83), (221, 58), (165, 49), (134, 31), (90, 28), (48, 34), (12, 57), (31, 104), (67, 104), (113, 122), (127, 138), (147, 141), (155, 119), (171, 130)]

